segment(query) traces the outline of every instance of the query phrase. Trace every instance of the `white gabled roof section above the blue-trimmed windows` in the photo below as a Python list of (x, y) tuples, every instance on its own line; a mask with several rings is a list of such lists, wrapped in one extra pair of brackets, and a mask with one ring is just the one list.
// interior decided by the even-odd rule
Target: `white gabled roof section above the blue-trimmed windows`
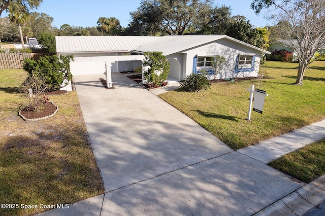
[(250, 44), (244, 43), (237, 39), (231, 38), (224, 34), (204, 34), (204, 35), (171, 35), (160, 37), (158, 40), (154, 40), (146, 45), (135, 48), (134, 52), (144, 53), (147, 51), (160, 51), (164, 55), (170, 55), (173, 53), (183, 52), (188, 49), (199, 47), (205, 44), (212, 43), (214, 41), (226, 38), (228, 40), (234, 41), (252, 49), (258, 50), (262, 53), (269, 53), (266, 50), (260, 49), (258, 47), (252, 46)]

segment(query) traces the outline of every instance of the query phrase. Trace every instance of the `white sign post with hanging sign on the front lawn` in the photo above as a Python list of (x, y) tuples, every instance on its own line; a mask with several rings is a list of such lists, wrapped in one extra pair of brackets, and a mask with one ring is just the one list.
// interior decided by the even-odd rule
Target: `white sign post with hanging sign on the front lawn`
[[(247, 91), (250, 92), (250, 98), (249, 98), (249, 107), (248, 107), (248, 117), (247, 120), (250, 120), (250, 115), (252, 112), (252, 104), (254, 100), (254, 106), (253, 106), (253, 111), (257, 113), (263, 113), (263, 106), (264, 106), (264, 99), (265, 97), (269, 96), (266, 94), (265, 91), (256, 89), (254, 90), (254, 85), (252, 85), (251, 89), (247, 89)], [(255, 93), (255, 97), (254, 97)]]

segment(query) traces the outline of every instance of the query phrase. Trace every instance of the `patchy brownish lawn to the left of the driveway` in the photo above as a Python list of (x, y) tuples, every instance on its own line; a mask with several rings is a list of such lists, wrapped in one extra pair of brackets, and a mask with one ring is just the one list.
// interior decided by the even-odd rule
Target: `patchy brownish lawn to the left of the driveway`
[[(26, 205), (74, 203), (104, 193), (87, 139), (76, 92), (50, 95), (55, 116), (36, 122), (18, 117), (25, 103), (21, 69), (0, 70), (0, 200)], [(29, 215), (46, 209), (0, 209)]]

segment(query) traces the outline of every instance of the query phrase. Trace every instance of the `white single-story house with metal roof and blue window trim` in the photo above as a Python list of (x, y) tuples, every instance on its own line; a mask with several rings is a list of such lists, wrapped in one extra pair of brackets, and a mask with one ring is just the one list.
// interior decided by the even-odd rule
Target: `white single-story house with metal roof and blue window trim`
[[(73, 75), (111, 73), (142, 66), (144, 52), (163, 52), (170, 63), (169, 79), (181, 81), (191, 73), (211, 70), (211, 57), (227, 60), (218, 78), (256, 77), (262, 55), (269, 51), (226, 35), (57, 36), (57, 55), (74, 55)], [(110, 87), (110, 86), (109, 86)]]

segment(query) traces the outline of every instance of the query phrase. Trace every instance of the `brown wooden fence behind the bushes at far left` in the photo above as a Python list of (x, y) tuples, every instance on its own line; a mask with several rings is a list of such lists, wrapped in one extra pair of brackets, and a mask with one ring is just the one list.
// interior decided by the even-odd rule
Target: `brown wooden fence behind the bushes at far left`
[(0, 69), (20, 69), (25, 58), (35, 61), (41, 56), (54, 55), (55, 53), (0, 53)]

